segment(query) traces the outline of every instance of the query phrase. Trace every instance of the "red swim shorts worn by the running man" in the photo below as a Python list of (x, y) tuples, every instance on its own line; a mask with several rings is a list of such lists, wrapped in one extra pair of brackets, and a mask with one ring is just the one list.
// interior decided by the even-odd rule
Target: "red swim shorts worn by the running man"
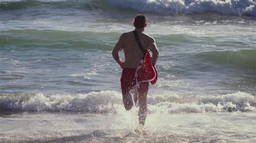
[[(136, 72), (136, 69), (134, 68), (123, 69), (122, 77), (121, 77), (121, 88), (122, 88), (123, 95), (129, 94), (130, 90), (136, 87), (135, 72)], [(147, 73), (146, 69), (139, 69), (137, 71), (138, 82), (147, 80), (148, 77), (146, 73)], [(139, 84), (138, 93), (143, 94), (144, 92), (147, 92), (147, 91), (149, 91), (149, 82), (141, 82)]]

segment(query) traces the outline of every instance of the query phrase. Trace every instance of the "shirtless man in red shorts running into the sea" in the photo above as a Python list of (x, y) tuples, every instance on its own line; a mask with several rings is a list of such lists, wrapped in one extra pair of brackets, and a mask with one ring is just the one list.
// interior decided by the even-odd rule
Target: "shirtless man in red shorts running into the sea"
[[(152, 65), (156, 65), (158, 59), (158, 48), (156, 42), (152, 37), (145, 34), (144, 28), (147, 26), (146, 16), (138, 15), (133, 22), (135, 31), (138, 33), (139, 41), (141, 42), (142, 47), (148, 51), (152, 52)], [(118, 52), (124, 49), (125, 61), (119, 58)], [(123, 94), (123, 102), (126, 110), (130, 110), (134, 103), (139, 105), (139, 124), (144, 125), (146, 116), (147, 116), (147, 91), (149, 90), (149, 82), (142, 82), (139, 85), (139, 88), (136, 86), (136, 69), (140, 65), (140, 60), (144, 56), (143, 52), (139, 48), (136, 38), (134, 37), (133, 31), (123, 33), (116, 46), (112, 51), (114, 60), (120, 65), (123, 69), (121, 81), (121, 88)], [(147, 74), (144, 65), (140, 65), (141, 68), (137, 73), (137, 80), (145, 81), (147, 80)]]

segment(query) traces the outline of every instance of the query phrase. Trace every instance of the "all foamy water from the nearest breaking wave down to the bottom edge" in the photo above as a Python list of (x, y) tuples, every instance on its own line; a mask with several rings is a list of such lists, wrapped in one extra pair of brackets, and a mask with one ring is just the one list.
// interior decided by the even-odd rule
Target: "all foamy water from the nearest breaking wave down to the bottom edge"
[(0, 141), (256, 141), (256, 101), (245, 92), (212, 96), (166, 92), (149, 95), (147, 102), (149, 114), (141, 128), (138, 108), (126, 111), (116, 91), (1, 94)]

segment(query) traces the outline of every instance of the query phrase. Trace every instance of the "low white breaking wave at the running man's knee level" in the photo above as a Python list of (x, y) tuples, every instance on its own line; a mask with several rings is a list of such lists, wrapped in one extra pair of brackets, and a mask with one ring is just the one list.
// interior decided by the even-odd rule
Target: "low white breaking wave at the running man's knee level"
[[(150, 113), (255, 111), (256, 98), (245, 92), (216, 96), (148, 96)], [(15, 111), (55, 111), (117, 113), (123, 108), (122, 95), (116, 91), (79, 95), (1, 94), (0, 109)]]

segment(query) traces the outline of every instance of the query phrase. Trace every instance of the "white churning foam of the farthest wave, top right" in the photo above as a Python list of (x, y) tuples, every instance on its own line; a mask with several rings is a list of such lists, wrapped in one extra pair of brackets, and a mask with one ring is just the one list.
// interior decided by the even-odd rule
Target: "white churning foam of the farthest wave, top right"
[(142, 12), (157, 12), (161, 14), (219, 12), (225, 15), (256, 16), (255, 2), (246, 1), (196, 1), (196, 0), (109, 0), (111, 5), (132, 8)]

